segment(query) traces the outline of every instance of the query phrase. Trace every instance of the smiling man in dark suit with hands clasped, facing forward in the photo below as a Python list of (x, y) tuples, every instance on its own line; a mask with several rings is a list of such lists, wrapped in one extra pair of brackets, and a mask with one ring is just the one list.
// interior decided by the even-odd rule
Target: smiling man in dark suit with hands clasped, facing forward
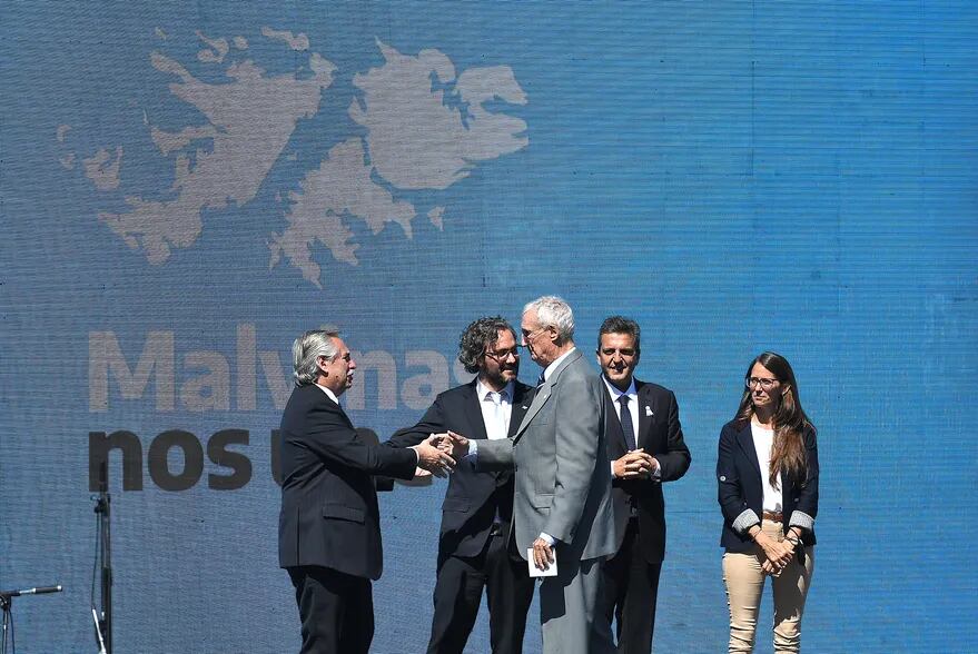
[(616, 618), (618, 652), (648, 654), (655, 626), (659, 573), (665, 555), (662, 484), (682, 477), (690, 450), (682, 437), (675, 395), (633, 377), (641, 329), (629, 318), (607, 318), (597, 335), (607, 420), (607, 457), (618, 553), (603, 567), (604, 616)]

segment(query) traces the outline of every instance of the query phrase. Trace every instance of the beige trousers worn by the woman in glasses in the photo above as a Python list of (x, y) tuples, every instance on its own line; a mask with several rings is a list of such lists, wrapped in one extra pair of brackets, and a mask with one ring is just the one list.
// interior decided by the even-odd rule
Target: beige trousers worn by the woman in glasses
[[(763, 521), (764, 534), (777, 541), (784, 538), (781, 523)], [(774, 652), (799, 652), (801, 647), (801, 614), (811, 584), (814, 566), (813, 547), (804, 548), (804, 566), (792, 557), (781, 574), (771, 577), (774, 589)], [(730, 652), (753, 652), (758, 613), (764, 575), (761, 548), (752, 554), (723, 555), (723, 583), (727, 585), (727, 603), (730, 606)]]

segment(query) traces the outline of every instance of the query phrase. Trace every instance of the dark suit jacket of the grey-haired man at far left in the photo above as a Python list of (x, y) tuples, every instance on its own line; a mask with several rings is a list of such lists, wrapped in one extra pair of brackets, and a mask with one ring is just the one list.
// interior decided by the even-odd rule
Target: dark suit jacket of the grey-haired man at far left
[(339, 405), (314, 385), (293, 390), (280, 435), (279, 565), (379, 578), (383, 548), (372, 475), (409, 479), (417, 455), (365, 444)]

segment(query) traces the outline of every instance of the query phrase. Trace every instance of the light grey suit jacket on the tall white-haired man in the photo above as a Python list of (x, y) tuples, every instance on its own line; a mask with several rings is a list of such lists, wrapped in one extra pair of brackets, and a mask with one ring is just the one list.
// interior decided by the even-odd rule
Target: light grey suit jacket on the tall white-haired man
[(513, 523), (520, 555), (541, 532), (559, 556), (610, 556), (616, 548), (604, 386), (575, 350), (537, 389), (515, 435), (480, 440), (480, 469), (516, 468)]

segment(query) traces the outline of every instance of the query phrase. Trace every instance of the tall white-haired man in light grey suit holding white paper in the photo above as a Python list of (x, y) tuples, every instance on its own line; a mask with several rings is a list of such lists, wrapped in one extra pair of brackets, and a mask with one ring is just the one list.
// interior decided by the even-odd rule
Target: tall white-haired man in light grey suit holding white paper
[(515, 465), (513, 529), (520, 554), (557, 575), (540, 586), (544, 654), (614, 652), (601, 616), (601, 563), (615, 553), (611, 465), (604, 442), (604, 388), (574, 347), (574, 316), (559, 297), (523, 309), (523, 346), (542, 368), (536, 395), (516, 434), (470, 442), (455, 452), (480, 469)]

